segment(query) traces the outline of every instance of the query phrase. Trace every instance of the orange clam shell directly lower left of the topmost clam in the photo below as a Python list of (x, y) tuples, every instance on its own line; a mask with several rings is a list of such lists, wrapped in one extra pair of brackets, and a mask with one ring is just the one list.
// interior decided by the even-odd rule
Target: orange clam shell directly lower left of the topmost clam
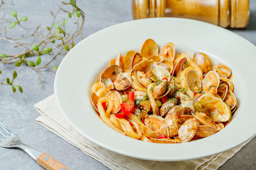
[(132, 70), (132, 68), (141, 62), (142, 57), (140, 53), (134, 52), (133, 50), (127, 52), (124, 56), (124, 71), (129, 72)]

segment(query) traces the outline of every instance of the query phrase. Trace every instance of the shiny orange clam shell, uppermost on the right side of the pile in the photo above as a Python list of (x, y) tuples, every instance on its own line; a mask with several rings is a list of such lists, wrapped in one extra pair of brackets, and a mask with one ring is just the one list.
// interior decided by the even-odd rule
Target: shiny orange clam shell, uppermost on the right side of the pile
[(205, 53), (196, 52), (193, 55), (193, 61), (196, 63), (203, 73), (211, 71), (211, 60)]

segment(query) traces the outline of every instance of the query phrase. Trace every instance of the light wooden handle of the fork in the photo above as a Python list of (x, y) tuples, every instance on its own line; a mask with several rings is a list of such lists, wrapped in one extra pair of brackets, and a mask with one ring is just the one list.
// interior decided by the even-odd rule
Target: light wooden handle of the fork
[(70, 170), (67, 166), (63, 166), (60, 162), (56, 159), (53, 159), (50, 155), (46, 153), (42, 153), (37, 159), (36, 162), (44, 167), (45, 169), (49, 170)]

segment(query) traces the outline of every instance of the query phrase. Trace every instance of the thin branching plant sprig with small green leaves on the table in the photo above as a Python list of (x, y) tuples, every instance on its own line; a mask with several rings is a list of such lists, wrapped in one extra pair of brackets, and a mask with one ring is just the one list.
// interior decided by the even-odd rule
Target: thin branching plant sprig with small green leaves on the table
[[(30, 67), (38, 73), (38, 80), (41, 85), (41, 70), (50, 69), (51, 71), (56, 72), (58, 66), (51, 66), (51, 63), (56, 59), (56, 57), (66, 55), (67, 52), (75, 46), (75, 38), (79, 37), (83, 39), (84, 12), (76, 5), (76, 0), (70, 0), (69, 3), (61, 3), (61, 5), (58, 5), (58, 10), (56, 10), (55, 13), (50, 11), (52, 15), (52, 22), (46, 27), (46, 32), (43, 31), (45, 28), (42, 28), (41, 25), (38, 25), (35, 28), (25, 27), (23, 24), (25, 22), (29, 22), (29, 18), (26, 15), (19, 17), (19, 13), (17, 13), (16, 10), (10, 10), (10, 14), (14, 17), (14, 20), (8, 20), (5, 15), (7, 8), (4, 7), (4, 4), (6, 3), (2, 1), (0, 4), (0, 11), (5, 10), (3, 17), (0, 17), (0, 20), (3, 20), (4, 24), (8, 24), (8, 28), (6, 25), (3, 26), (3, 29), (0, 28), (0, 39), (12, 43), (15, 45), (15, 48), (21, 49), (21, 52), (16, 54), (0, 53), (1, 62), (3, 64), (12, 64), (16, 67)], [(11, 5), (13, 5), (13, 2)], [(66, 9), (68, 6), (72, 6), (71, 11)], [(68, 24), (67, 18), (64, 18), (61, 23), (56, 22), (56, 18), (60, 13), (67, 13), (68, 18), (75, 18), (76, 22), (74, 22), (74, 24), (76, 25), (76, 29), (73, 29), (72, 32), (67, 32), (65, 27)], [(17, 25), (27, 32), (27, 34), (26, 36), (22, 34), (20, 38), (11, 38), (8, 36), (8, 33), (12, 32), (12, 29)], [(27, 41), (29, 41), (29, 43)], [(46, 64), (42, 64), (44, 55), (52, 56), (52, 59)], [(38, 57), (36, 60), (31, 60), (30, 57), (33, 56)], [(17, 75), (17, 73), (15, 75)], [(17, 76), (15, 78), (17, 78)], [(13, 80), (15, 78), (13, 78)], [(6, 78), (6, 82), (1, 82), (0, 85), (10, 85), (13, 92), (16, 92), (16, 90), (14, 90), (16, 87), (20, 90), (21, 87), (19, 85), (13, 85), (13, 80), (8, 80), (10, 80), (10, 78)], [(21, 91), (23, 92), (22, 88)]]

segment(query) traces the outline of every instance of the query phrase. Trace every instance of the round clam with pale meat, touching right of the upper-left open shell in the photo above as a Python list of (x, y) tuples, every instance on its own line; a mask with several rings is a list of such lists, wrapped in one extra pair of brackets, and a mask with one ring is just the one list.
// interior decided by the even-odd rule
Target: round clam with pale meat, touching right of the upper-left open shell
[(116, 90), (126, 90), (131, 86), (132, 79), (129, 73), (121, 73), (114, 81)]

